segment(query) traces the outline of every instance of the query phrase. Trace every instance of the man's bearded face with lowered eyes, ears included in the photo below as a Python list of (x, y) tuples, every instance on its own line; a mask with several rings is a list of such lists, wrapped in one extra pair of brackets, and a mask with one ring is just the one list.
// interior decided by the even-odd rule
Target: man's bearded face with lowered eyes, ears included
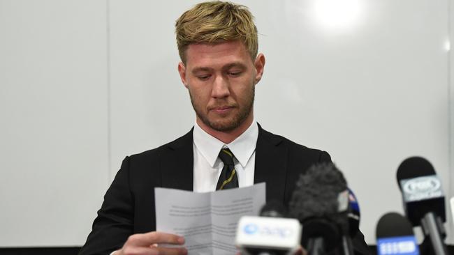
[(265, 58), (252, 61), (240, 41), (194, 44), (186, 49), (186, 64), (178, 71), (201, 127), (230, 132), (249, 127), (254, 115), (254, 88)]

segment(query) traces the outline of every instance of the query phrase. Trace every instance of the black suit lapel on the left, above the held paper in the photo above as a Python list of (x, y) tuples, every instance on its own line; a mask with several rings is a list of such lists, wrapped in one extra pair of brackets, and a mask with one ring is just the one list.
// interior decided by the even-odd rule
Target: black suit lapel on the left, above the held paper
[(163, 148), (162, 187), (193, 190), (193, 137), (189, 131)]

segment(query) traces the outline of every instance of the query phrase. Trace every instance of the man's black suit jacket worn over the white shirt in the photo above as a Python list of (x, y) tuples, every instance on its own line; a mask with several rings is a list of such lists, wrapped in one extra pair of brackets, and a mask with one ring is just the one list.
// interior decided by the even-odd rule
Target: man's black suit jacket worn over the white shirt
[[(330, 155), (258, 128), (254, 183), (266, 183), (267, 201), (286, 204), (300, 173), (314, 163), (330, 162)], [(79, 254), (110, 254), (129, 235), (154, 231), (154, 187), (193, 190), (192, 130), (169, 144), (123, 160)], [(353, 239), (353, 246), (360, 254), (368, 254), (362, 233)]]

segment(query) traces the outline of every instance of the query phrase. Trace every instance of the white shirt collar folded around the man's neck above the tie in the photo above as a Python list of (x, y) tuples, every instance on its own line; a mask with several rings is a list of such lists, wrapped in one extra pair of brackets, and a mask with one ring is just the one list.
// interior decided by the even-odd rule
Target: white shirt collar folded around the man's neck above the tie
[(224, 144), (224, 142), (212, 137), (197, 123), (194, 125), (193, 142), (211, 167), (214, 167), (221, 148), (227, 146), (244, 168), (256, 150), (257, 139), (258, 125), (255, 120), (240, 137), (237, 137), (230, 144)]

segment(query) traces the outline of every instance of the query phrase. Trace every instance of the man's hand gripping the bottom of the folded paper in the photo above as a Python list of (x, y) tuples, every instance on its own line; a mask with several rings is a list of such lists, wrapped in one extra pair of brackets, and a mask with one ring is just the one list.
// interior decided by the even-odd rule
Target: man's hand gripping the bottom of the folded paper
[(184, 247), (159, 247), (159, 244), (184, 245), (184, 238), (179, 235), (162, 232), (148, 232), (130, 235), (122, 249), (112, 255), (185, 255)]

